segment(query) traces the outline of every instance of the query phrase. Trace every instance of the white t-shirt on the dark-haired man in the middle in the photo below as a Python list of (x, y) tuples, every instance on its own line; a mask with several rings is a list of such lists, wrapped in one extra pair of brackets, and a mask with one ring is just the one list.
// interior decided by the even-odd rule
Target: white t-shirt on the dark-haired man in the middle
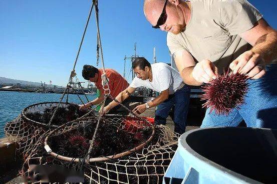
[(147, 87), (159, 93), (169, 89), (169, 94), (171, 95), (175, 93), (183, 82), (180, 73), (166, 63), (151, 64), (151, 69), (152, 82), (150, 82), (149, 79), (142, 80), (135, 77), (131, 82), (130, 87)]

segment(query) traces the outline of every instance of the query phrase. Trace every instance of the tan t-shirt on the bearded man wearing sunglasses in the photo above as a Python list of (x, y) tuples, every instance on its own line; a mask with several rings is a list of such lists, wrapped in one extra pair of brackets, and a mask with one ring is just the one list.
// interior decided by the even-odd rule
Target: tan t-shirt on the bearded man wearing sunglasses
[(171, 54), (187, 50), (196, 59), (209, 59), (219, 73), (251, 45), (238, 36), (262, 17), (246, 0), (190, 0), (191, 18), (186, 29), (167, 34)]

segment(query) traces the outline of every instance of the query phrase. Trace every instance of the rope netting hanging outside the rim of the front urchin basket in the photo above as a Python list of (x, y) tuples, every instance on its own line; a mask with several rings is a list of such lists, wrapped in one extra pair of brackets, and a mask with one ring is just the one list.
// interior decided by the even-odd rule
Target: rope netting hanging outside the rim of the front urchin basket
[[(166, 126), (159, 125), (153, 128), (155, 136), (142, 149), (118, 158), (103, 156), (91, 158), (89, 164), (83, 165), (85, 181), (82, 184), (160, 184), (177, 149), (179, 135)], [(69, 130), (68, 127), (67, 130)], [(56, 135), (56, 133), (52, 134), (54, 137)], [(40, 145), (40, 149), (43, 149), (43, 144)], [(84, 162), (81, 158), (78, 161), (76, 161), (77, 158), (68, 161), (57, 155), (53, 156), (52, 151), (48, 150), (48, 152), (48, 154), (44, 152), (40, 156), (36, 154), (30, 157), (25, 170), (34, 164), (59, 165), (78, 170)], [(24, 170), (21, 174), (31, 178), (37, 175)]]

